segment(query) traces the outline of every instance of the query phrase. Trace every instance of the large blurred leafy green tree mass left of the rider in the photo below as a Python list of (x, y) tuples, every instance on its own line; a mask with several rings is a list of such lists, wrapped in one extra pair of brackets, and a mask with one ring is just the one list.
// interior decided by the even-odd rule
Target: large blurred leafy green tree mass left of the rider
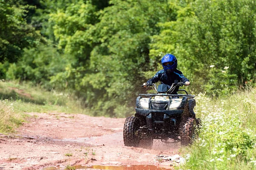
[[(80, 8), (87, 9), (87, 17)], [(93, 17), (99, 22), (93, 23)], [(159, 31), (156, 24), (165, 19), (166, 3), (153, 0), (112, 0), (102, 11), (80, 1), (64, 13), (52, 14), (58, 47), (77, 61), (52, 82), (60, 84), (65, 79), (97, 111), (111, 116), (128, 113), (126, 107), (135, 99), (143, 71), (151, 69), (150, 37)]]

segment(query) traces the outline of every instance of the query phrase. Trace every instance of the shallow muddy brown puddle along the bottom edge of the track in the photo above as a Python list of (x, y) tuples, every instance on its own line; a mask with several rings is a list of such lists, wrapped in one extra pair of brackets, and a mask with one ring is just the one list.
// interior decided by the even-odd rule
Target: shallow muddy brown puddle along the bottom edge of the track
[[(75, 166), (76, 170), (171, 170), (171, 167), (159, 167), (155, 165), (128, 165), (128, 166), (101, 166), (101, 165), (93, 165), (93, 166)], [(63, 170), (60, 167), (47, 167), (43, 170)]]

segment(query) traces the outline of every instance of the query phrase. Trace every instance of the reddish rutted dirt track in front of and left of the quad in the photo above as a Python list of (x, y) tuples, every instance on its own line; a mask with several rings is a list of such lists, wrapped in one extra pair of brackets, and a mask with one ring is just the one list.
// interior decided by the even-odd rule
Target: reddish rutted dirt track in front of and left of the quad
[[(125, 147), (122, 130), (125, 119), (91, 117), (82, 114), (28, 113), (12, 135), (0, 134), (0, 169), (64, 169), (70, 165), (164, 165), (157, 155), (178, 153), (180, 143), (154, 140), (153, 149)], [(65, 156), (72, 153), (72, 156)]]

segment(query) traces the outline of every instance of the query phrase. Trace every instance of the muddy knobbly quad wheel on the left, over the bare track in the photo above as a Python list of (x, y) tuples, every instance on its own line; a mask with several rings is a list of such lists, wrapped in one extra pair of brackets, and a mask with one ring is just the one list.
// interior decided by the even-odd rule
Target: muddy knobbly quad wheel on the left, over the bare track
[(140, 121), (134, 117), (130, 116), (126, 118), (123, 137), (125, 146), (138, 147), (140, 143), (140, 138), (138, 137), (137, 130), (140, 128)]

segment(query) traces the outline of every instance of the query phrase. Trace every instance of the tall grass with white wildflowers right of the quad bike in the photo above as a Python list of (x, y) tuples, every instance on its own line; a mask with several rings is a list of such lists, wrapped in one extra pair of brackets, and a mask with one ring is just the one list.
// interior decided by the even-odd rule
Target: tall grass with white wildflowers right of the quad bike
[(196, 98), (202, 119), (199, 138), (183, 150), (190, 159), (180, 169), (256, 169), (256, 90), (225, 99)]

